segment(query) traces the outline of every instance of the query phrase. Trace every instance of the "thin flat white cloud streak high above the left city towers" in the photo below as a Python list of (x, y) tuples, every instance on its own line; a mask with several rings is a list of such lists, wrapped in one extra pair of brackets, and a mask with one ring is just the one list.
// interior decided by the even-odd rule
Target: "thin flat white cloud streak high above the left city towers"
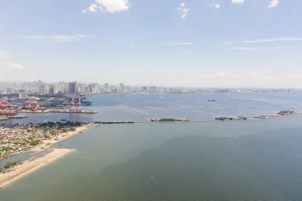
[(91, 35), (83, 35), (83, 34), (75, 34), (75, 35), (54, 35), (54, 36), (41, 36), (41, 35), (33, 35), (33, 36), (20, 36), (21, 38), (31, 38), (31, 39), (54, 39), (56, 42), (69, 42), (69, 41), (78, 41), (87, 38), (92, 38)]

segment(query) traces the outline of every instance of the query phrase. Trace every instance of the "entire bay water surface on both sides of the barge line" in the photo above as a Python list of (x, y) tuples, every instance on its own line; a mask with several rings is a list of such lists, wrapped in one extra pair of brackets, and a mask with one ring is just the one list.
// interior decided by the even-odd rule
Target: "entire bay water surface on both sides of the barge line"
[[(219, 115), (251, 118), (287, 108), (302, 111), (302, 94), (296, 93), (88, 99), (93, 105), (83, 108), (98, 113), (62, 117), (201, 120)], [(33, 114), (10, 121), (41, 122), (60, 115)], [(301, 122), (302, 113), (266, 120), (101, 124), (63, 141), (61, 147), (54, 145), (77, 152), (7, 185), (0, 190), (0, 200), (302, 200)]]

